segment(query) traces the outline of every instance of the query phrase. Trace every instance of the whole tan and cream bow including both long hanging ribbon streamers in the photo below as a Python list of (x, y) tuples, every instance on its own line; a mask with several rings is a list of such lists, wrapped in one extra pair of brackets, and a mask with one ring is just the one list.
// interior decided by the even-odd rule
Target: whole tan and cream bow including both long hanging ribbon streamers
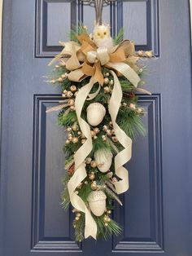
[[(88, 205), (85, 205), (85, 202), (75, 192), (78, 184), (87, 177), (85, 158), (93, 148), (90, 127), (81, 118), (81, 111), (85, 100), (88, 100), (87, 97), (89, 96), (89, 99), (94, 99), (100, 90), (100, 86), (103, 86), (102, 66), (109, 68), (114, 78), (114, 88), (108, 109), (116, 137), (124, 147), (124, 150), (119, 152), (115, 157), (116, 175), (120, 178), (120, 181), (115, 186), (118, 193), (125, 192), (129, 188), (129, 174), (123, 166), (131, 158), (132, 140), (116, 124), (116, 117), (122, 99), (122, 89), (117, 75), (123, 75), (135, 87), (137, 87), (140, 78), (136, 72), (138, 58), (135, 56), (133, 42), (125, 40), (120, 45), (107, 51), (107, 48), (98, 48), (87, 34), (81, 34), (78, 36), (78, 40), (81, 42), (81, 45), (76, 42), (60, 42), (64, 46), (64, 49), (59, 55), (55, 56), (55, 59), (50, 64), (62, 59), (66, 64), (66, 68), (70, 71), (68, 73), (68, 79), (73, 82), (81, 82), (85, 77), (91, 77), (89, 83), (81, 87), (75, 99), (76, 117), (81, 132), (86, 137), (86, 141), (74, 155), (75, 172), (68, 182), (68, 192), (73, 207), (85, 213), (85, 238), (92, 236), (96, 239), (97, 224), (89, 212)], [(116, 71), (117, 75), (114, 71)], [(99, 84), (98, 90), (94, 94), (89, 94), (96, 82)]]

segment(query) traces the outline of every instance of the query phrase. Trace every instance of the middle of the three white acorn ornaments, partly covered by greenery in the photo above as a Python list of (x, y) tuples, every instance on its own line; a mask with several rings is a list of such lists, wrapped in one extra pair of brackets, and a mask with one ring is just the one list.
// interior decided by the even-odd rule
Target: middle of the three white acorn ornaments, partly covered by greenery
[(98, 170), (102, 173), (106, 173), (111, 167), (112, 153), (106, 149), (98, 149), (98, 151), (94, 153), (94, 159), (97, 162)]

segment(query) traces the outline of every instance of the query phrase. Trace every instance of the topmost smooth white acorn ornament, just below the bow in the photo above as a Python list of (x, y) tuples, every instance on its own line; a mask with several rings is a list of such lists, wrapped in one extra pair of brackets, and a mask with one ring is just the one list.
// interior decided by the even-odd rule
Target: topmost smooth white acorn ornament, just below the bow
[(103, 107), (103, 104), (92, 103), (89, 104), (87, 108), (87, 121), (91, 126), (98, 126), (105, 117), (106, 109)]

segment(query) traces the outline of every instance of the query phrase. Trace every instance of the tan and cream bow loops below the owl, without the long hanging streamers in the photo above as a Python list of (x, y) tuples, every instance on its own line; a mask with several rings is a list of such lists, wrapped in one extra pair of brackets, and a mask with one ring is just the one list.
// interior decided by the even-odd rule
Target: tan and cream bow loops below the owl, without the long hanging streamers
[(68, 73), (70, 81), (81, 82), (85, 77), (94, 76), (95, 82), (103, 86), (102, 66), (105, 66), (123, 75), (137, 87), (140, 78), (136, 72), (138, 57), (135, 55), (133, 42), (124, 40), (120, 45), (107, 51), (107, 48), (98, 48), (86, 33), (77, 38), (81, 45), (77, 42), (60, 42), (64, 46), (63, 51), (50, 62), (53, 64), (62, 58), (70, 71)]

